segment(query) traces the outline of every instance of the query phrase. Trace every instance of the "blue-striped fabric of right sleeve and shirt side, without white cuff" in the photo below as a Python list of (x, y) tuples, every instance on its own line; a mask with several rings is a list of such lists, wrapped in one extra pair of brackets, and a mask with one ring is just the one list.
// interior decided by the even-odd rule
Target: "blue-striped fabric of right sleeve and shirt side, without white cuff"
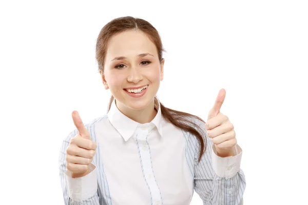
[[(201, 124), (201, 121), (195, 121)], [(202, 127), (202, 126), (201, 126)], [(206, 141), (206, 151), (201, 161), (199, 157), (199, 143), (190, 133), (184, 133), (186, 141), (186, 159), (192, 171), (194, 167), (194, 189), (203, 200), (203, 204), (243, 204), (243, 193), (246, 187), (245, 176), (240, 170), (234, 177), (225, 179), (216, 175), (212, 168), (211, 147), (213, 142), (208, 138), (206, 130), (203, 132)], [(228, 190), (232, 189), (230, 194)]]

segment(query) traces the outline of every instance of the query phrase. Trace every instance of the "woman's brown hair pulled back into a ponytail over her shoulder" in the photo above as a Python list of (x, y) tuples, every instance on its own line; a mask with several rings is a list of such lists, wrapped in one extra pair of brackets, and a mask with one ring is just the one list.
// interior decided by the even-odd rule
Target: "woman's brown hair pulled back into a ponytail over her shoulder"
[[(104, 72), (104, 60), (106, 56), (106, 50), (108, 45), (108, 40), (117, 33), (124, 32), (126, 30), (138, 29), (144, 32), (149, 39), (155, 44), (158, 52), (158, 57), (160, 62), (163, 60), (163, 51), (164, 48), (162, 46), (161, 38), (158, 31), (146, 20), (141, 18), (134, 18), (131, 16), (119, 17), (111, 20), (107, 23), (101, 30), (96, 45), (96, 59), (99, 65), (99, 71)], [(114, 97), (111, 96), (109, 101), (108, 110), (110, 110), (111, 103)], [(180, 112), (177, 110), (172, 110), (166, 108), (162, 103), (160, 103), (161, 112), (164, 119), (174, 126), (195, 135), (199, 141), (200, 152), (198, 161), (201, 160), (201, 157), (206, 149), (206, 141), (202, 137), (202, 128), (192, 119), (199, 119), (204, 122), (200, 117), (196, 115), (191, 115), (189, 113)], [(205, 122), (204, 122), (205, 123)]]

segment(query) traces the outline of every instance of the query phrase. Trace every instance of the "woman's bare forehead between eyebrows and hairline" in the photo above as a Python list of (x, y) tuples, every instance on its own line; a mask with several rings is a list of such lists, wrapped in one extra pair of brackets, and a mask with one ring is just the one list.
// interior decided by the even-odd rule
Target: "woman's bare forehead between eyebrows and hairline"
[(155, 44), (142, 31), (124, 31), (115, 34), (109, 39), (106, 60), (117, 56), (136, 56), (140, 53), (151, 53), (156, 56)]

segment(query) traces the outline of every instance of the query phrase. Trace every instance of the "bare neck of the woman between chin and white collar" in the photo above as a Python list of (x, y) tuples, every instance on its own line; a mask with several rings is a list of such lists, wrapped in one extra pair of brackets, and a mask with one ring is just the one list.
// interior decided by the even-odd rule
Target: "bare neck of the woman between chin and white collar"
[(157, 110), (154, 109), (154, 100), (155, 99), (153, 99), (147, 107), (141, 110), (132, 110), (117, 101), (115, 101), (115, 105), (117, 105), (118, 109), (130, 119), (137, 121), (140, 124), (145, 124), (152, 121), (157, 114)]

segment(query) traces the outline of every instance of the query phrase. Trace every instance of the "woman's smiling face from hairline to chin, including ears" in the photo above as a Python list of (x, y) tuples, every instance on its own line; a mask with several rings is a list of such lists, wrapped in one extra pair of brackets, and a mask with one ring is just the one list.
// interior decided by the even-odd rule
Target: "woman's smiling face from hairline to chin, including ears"
[(160, 63), (155, 44), (145, 33), (129, 30), (109, 39), (104, 74), (117, 105), (144, 109), (153, 100), (163, 80), (164, 60)]

